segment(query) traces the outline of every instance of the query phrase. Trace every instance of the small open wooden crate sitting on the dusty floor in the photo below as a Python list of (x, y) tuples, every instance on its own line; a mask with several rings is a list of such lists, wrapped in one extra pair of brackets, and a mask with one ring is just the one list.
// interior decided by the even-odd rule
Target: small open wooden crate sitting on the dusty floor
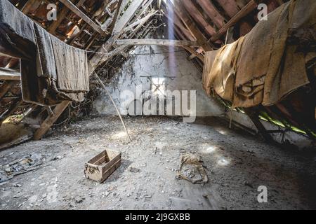
[(121, 153), (105, 150), (92, 160), (89, 160), (84, 169), (86, 179), (105, 181), (121, 165)]

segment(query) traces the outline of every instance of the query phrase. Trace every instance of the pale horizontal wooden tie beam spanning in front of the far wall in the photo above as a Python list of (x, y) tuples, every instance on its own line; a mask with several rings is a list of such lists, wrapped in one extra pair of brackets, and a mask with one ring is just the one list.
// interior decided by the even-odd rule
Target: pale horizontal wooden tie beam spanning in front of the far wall
[(154, 40), (154, 39), (120, 39), (115, 41), (117, 45), (164, 45), (164, 46), (197, 46), (195, 41), (178, 40)]

